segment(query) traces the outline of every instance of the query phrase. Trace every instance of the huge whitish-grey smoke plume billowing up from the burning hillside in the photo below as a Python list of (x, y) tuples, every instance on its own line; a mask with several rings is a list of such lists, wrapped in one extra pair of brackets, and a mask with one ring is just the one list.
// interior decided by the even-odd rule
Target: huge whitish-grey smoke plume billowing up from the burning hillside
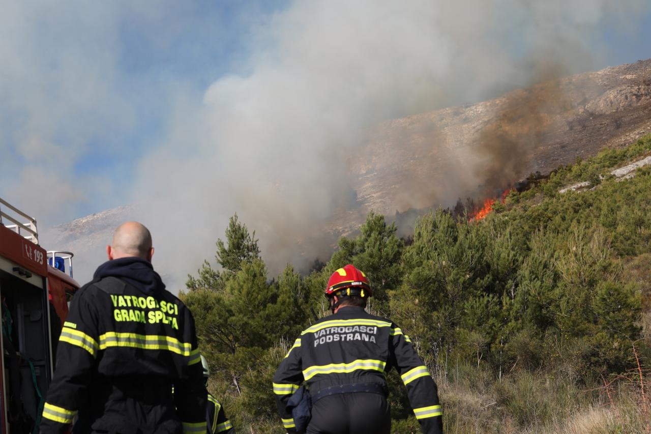
[(294, 2), (258, 29), (247, 72), (215, 81), (143, 161), (136, 200), (150, 203), (169, 247), (191, 246), (184, 270), (211, 257), (234, 212), (275, 270), (311, 261), (318, 250), (297, 240), (353, 206), (348, 177), (364, 164), (355, 147), (367, 128), (529, 85), (541, 65), (592, 68), (603, 61), (603, 27), (630, 25), (644, 9), (637, 0)]

